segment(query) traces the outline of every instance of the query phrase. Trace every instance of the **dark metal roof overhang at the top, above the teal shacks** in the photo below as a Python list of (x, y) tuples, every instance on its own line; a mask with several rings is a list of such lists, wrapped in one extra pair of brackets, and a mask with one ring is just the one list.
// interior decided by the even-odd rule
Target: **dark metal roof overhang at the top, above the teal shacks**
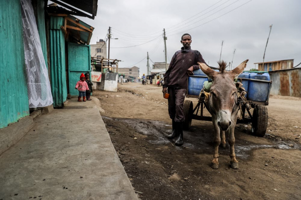
[(75, 15), (86, 16), (94, 19), (94, 17), (97, 14), (98, 0), (52, 0), (52, 1), (72, 11), (75, 11), (76, 12)]

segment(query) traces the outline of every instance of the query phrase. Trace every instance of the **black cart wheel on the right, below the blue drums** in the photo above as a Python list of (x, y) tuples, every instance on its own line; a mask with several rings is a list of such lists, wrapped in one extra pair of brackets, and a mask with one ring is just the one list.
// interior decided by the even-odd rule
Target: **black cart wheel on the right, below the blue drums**
[(267, 107), (265, 105), (255, 105), (253, 110), (252, 134), (263, 137), (267, 127)]

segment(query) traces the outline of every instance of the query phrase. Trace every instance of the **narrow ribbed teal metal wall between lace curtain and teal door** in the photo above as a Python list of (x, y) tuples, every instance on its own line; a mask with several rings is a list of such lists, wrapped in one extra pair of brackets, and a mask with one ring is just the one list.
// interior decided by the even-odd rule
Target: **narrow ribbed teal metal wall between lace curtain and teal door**
[(64, 17), (50, 17), (49, 48), (53, 106), (62, 107), (67, 99)]

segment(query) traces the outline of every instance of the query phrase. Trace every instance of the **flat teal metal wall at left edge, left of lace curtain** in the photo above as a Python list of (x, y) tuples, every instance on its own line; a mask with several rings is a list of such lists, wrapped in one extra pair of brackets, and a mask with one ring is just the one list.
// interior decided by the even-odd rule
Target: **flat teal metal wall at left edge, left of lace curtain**
[(20, 0), (0, 0), (0, 128), (29, 115)]

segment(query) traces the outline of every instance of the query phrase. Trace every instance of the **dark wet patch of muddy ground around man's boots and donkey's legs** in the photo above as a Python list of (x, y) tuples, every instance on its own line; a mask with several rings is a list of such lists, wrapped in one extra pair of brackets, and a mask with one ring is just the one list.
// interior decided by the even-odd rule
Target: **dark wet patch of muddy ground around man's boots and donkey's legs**
[[(103, 118), (114, 120), (112, 118), (102, 116)], [(172, 131), (172, 125), (167, 124), (163, 121), (156, 120), (144, 120), (144, 119), (124, 119), (118, 118), (115, 120), (123, 121), (129, 126), (134, 128), (141, 134), (148, 136), (148, 142), (152, 144), (167, 144), (172, 143), (175, 145), (175, 139), (167, 139), (167, 135)], [(240, 131), (241, 134), (245, 134)], [(204, 127), (199, 128), (198, 126), (192, 127), (189, 131), (184, 131), (184, 144), (183, 146), (176, 146), (178, 150), (189, 148), (199, 153), (212, 153), (213, 152), (213, 130), (206, 130)], [(235, 154), (239, 158), (248, 158), (250, 153), (254, 149), (264, 148), (279, 148), (279, 149), (301, 149), (301, 145), (290, 143), (287, 141), (272, 141), (267, 138), (262, 138), (267, 143), (271, 144), (256, 144), (255, 142), (246, 141), (243, 139), (237, 139), (235, 143)], [(227, 154), (229, 152), (229, 144), (227, 147), (219, 148), (220, 153)]]

